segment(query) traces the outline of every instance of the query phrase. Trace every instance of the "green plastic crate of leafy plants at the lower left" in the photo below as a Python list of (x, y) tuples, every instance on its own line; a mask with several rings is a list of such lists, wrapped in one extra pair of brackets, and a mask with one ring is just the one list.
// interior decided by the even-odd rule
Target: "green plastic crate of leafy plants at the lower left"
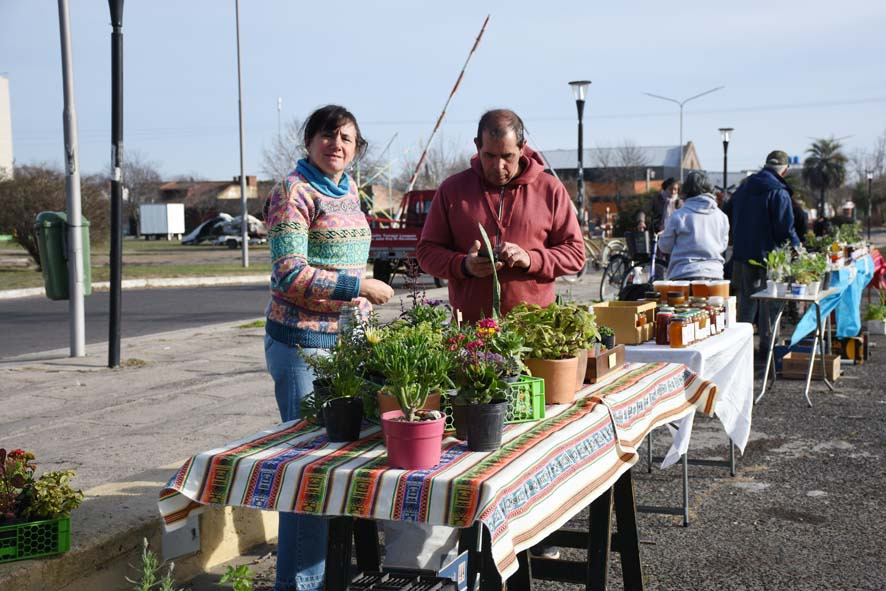
[(34, 454), (0, 448), (0, 563), (66, 552), (70, 513), (83, 493), (68, 482), (72, 470), (34, 478)]

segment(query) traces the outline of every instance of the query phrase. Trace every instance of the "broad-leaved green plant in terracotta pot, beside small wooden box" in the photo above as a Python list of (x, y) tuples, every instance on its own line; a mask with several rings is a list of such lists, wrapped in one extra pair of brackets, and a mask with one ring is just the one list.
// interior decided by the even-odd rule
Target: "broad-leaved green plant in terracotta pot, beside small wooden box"
[[(590, 342), (594, 334), (577, 335), (577, 326), (588, 326), (587, 316), (573, 321), (575, 308), (558, 303), (541, 307), (521, 303), (509, 313), (503, 329), (515, 331), (528, 349), (523, 362), (533, 376), (545, 381), (545, 403), (565, 404), (575, 398), (579, 342)], [(590, 315), (591, 319), (593, 315)]]

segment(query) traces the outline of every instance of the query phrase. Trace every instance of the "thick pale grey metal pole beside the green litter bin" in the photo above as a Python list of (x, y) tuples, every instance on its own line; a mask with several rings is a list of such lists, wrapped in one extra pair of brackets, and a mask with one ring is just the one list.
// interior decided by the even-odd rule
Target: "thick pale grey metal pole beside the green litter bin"
[[(58, 28), (62, 46), (62, 89), (65, 130), (65, 196), (68, 224), (68, 313), (70, 314), (71, 357), (86, 355), (86, 320), (83, 304), (83, 230), (80, 208), (80, 154), (77, 140), (77, 110), (74, 105), (74, 60), (71, 57), (71, 13), (68, 0), (58, 0)], [(87, 261), (88, 264), (88, 261)]]

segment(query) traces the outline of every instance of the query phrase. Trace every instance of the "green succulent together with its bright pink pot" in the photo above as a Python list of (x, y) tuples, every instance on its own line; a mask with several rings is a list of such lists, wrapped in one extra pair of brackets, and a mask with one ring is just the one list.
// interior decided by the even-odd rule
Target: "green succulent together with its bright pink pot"
[(444, 415), (425, 410), (428, 396), (451, 387), (451, 356), (442, 334), (427, 323), (399, 329), (397, 338), (382, 338), (372, 349), (385, 377), (385, 392), (400, 410), (382, 413), (388, 463), (407, 470), (427, 469), (440, 462)]

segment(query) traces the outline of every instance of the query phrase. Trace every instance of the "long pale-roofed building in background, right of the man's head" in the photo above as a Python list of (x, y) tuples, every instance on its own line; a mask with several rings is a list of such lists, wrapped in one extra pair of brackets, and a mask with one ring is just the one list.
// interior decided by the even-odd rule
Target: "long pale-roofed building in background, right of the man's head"
[[(577, 150), (546, 150), (548, 170), (556, 171), (575, 198), (578, 180)], [(591, 215), (604, 215), (617, 209), (618, 199), (648, 190), (660, 189), (668, 177), (680, 177), (680, 146), (620, 146), (586, 148), (583, 153), (585, 196), (590, 199)], [(683, 174), (701, 170), (695, 145), (683, 149)], [(722, 175), (721, 175), (722, 176)]]

